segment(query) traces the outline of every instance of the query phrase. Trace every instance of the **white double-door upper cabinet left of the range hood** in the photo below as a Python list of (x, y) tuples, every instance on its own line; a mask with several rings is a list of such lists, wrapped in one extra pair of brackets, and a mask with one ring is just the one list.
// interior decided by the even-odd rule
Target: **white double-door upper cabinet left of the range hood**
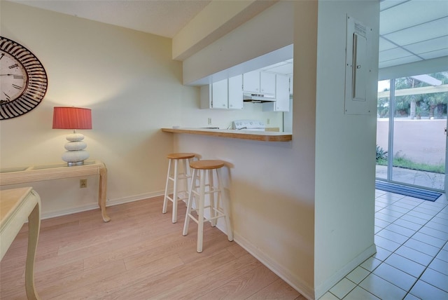
[(243, 109), (242, 75), (201, 87), (202, 109)]

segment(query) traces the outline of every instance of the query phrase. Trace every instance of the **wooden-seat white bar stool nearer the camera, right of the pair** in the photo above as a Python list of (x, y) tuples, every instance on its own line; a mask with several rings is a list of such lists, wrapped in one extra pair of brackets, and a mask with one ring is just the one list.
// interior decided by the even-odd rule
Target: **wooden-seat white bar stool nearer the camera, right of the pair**
[[(193, 169), (192, 180), (190, 182), (190, 194), (188, 196), (187, 212), (185, 217), (185, 224), (183, 225), (183, 236), (188, 234), (188, 224), (190, 219), (197, 223), (197, 252), (202, 252), (202, 240), (204, 233), (204, 222), (210, 221), (211, 226), (216, 226), (216, 220), (223, 217), (225, 219), (225, 226), (227, 229), (227, 236), (230, 241), (233, 240), (232, 227), (229, 219), (229, 205), (228, 200), (221, 196), (223, 184), (221, 181), (221, 168), (224, 166), (224, 161), (218, 160), (204, 160), (190, 162), (190, 168)], [(213, 170), (216, 170), (216, 178), (218, 179), (218, 186), (214, 186)], [(208, 171), (208, 172), (207, 172)], [(208, 174), (207, 174), (208, 173)], [(208, 175), (208, 182), (206, 180)], [(197, 186), (196, 182), (199, 180), (200, 184)], [(206, 187), (208, 188), (206, 191)], [(199, 191), (197, 189), (199, 188)], [(214, 194), (217, 194), (215, 203)], [(209, 195), (209, 205), (205, 206), (205, 195)], [(193, 209), (193, 197), (199, 196), (197, 207)], [(210, 218), (204, 218), (204, 209), (210, 208)], [(197, 219), (192, 212), (197, 212)]]

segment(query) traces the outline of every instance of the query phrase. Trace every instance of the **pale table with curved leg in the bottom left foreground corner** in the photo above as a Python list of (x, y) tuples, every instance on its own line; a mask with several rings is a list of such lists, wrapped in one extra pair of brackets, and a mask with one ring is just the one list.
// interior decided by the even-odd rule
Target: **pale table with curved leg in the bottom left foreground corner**
[(0, 259), (28, 220), (25, 289), (28, 299), (39, 299), (34, 287), (34, 259), (41, 228), (41, 198), (31, 187), (0, 191)]

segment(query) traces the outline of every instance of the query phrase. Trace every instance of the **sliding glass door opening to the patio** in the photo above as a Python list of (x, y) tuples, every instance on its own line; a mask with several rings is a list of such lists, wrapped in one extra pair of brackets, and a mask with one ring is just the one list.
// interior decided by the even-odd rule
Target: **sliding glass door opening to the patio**
[(448, 72), (379, 81), (377, 179), (445, 191)]

